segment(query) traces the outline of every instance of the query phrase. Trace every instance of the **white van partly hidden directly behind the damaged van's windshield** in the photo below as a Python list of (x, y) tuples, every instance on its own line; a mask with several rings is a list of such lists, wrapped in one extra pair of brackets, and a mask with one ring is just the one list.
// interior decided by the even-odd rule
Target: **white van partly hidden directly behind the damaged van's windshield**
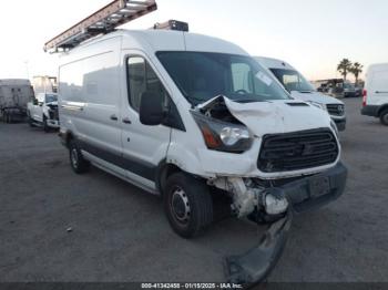
[(338, 131), (346, 128), (345, 105), (341, 101), (317, 92), (297, 70), (285, 61), (263, 56), (254, 59), (268, 69), (293, 97), (327, 111)]

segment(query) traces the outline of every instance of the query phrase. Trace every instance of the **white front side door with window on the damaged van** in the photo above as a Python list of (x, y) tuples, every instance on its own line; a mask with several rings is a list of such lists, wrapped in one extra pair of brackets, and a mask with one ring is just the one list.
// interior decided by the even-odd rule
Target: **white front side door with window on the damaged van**
[(122, 61), (125, 70), (121, 105), (123, 159), (129, 178), (154, 189), (155, 170), (166, 156), (171, 127), (140, 122), (141, 96), (145, 91), (163, 94), (165, 107), (171, 101), (157, 71), (142, 52), (124, 51)]

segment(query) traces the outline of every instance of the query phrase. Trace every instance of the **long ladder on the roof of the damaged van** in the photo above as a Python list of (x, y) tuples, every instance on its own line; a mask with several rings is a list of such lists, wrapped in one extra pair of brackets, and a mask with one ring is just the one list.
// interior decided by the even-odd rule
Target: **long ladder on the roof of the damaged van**
[(157, 9), (155, 0), (114, 0), (44, 44), (44, 51), (73, 49), (81, 42)]

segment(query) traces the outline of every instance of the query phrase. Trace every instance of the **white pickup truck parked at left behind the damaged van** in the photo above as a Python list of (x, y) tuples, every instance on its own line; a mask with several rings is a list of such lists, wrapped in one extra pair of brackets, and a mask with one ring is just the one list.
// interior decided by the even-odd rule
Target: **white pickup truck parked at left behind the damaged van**
[(39, 93), (28, 103), (27, 114), (30, 126), (42, 126), (44, 132), (59, 128), (58, 95), (54, 93)]

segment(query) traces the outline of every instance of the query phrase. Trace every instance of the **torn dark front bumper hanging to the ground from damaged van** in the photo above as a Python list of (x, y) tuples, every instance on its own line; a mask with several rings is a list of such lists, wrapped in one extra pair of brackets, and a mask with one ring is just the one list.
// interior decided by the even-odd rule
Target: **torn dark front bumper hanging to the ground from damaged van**
[(269, 225), (258, 246), (225, 259), (227, 280), (248, 286), (264, 281), (282, 256), (293, 215), (319, 208), (338, 198), (344, 193), (347, 169), (339, 163), (324, 173), (267, 188), (266, 194), (287, 198), (288, 210)]

